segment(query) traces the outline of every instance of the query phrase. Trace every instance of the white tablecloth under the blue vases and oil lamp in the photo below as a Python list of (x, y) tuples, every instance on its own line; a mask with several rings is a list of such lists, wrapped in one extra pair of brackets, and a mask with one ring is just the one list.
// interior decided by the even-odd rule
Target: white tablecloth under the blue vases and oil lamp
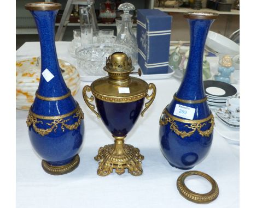
[[(69, 56), (68, 42), (56, 42), (60, 59), (75, 64)], [(26, 42), (16, 52), (16, 59), (39, 56), (38, 42)], [(141, 150), (143, 174), (112, 173), (97, 175), (94, 160), (100, 146), (113, 143), (113, 138), (85, 105), (81, 88), (74, 98), (85, 114), (85, 136), (79, 152), (80, 165), (72, 173), (60, 176), (46, 174), (41, 159), (33, 151), (28, 138), (27, 111), (16, 110), (16, 203), (26, 208), (80, 208), (80, 207), (238, 207), (239, 206), (239, 146), (230, 145), (214, 131), (210, 154), (193, 170), (200, 170), (214, 178), (219, 186), (219, 197), (210, 204), (198, 205), (184, 199), (178, 192), (176, 180), (184, 170), (175, 169), (162, 155), (159, 145), (159, 118), (172, 100), (180, 82), (175, 78), (152, 81), (157, 88), (156, 98), (144, 117), (127, 135), (125, 142)], [(216, 122), (219, 122), (216, 119)], [(207, 192), (208, 184), (188, 179), (191, 189)]]

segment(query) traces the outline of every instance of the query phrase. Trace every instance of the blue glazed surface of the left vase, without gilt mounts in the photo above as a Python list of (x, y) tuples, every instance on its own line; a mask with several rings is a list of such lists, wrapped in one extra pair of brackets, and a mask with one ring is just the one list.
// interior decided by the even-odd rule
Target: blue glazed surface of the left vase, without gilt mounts
[[(40, 48), (41, 48), (41, 76), (38, 87), (38, 94), (44, 97), (59, 97), (66, 95), (69, 91), (61, 75), (60, 66), (57, 60), (55, 48), (55, 19), (57, 10), (31, 11), (38, 29)], [(48, 69), (54, 78), (46, 82), (42, 72)], [(45, 101), (36, 97), (31, 106), (31, 111), (43, 116), (57, 116), (72, 112), (77, 107), (77, 102), (72, 95), (66, 99), (57, 101)], [(75, 114), (69, 115), (63, 120), (68, 120), (65, 124), (72, 125), (78, 121)], [(37, 119), (36, 126), (39, 129), (49, 129), (49, 125), (54, 120)], [(47, 124), (48, 123), (48, 124)], [(63, 130), (64, 129), (64, 130)], [(44, 136), (38, 134), (33, 126), (28, 127), (28, 134), (34, 150), (43, 160), (53, 166), (62, 166), (71, 162), (72, 158), (78, 153), (83, 143), (84, 121), (77, 129), (61, 129), (58, 124), (49, 134)]]

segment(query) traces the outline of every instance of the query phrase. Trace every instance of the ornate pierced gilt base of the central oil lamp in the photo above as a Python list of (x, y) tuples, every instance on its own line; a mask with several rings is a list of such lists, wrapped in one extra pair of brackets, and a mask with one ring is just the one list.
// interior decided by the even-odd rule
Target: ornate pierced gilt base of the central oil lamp
[(94, 157), (98, 164), (97, 174), (106, 176), (110, 173), (121, 175), (125, 168), (132, 175), (141, 175), (143, 170), (141, 161), (144, 156), (139, 154), (139, 149), (129, 144), (109, 144), (98, 150), (98, 155)]

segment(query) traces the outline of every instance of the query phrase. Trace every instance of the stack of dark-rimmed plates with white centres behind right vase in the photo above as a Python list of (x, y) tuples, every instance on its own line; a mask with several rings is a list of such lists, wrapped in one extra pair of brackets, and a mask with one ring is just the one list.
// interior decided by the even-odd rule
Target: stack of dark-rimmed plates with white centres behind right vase
[(205, 94), (207, 96), (207, 103), (211, 108), (224, 108), (226, 107), (226, 100), (235, 97), (237, 90), (231, 84), (206, 80), (203, 81)]

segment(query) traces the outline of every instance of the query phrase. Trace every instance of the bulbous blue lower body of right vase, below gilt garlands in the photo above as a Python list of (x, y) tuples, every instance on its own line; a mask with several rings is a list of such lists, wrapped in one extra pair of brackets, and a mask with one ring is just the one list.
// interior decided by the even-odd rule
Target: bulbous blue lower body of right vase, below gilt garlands
[[(191, 131), (185, 123), (175, 121), (179, 131)], [(211, 124), (205, 122), (202, 131), (210, 129)], [(170, 129), (170, 123), (160, 126), (160, 146), (162, 153), (171, 166), (179, 169), (191, 169), (200, 163), (208, 154), (213, 133), (210, 137), (202, 137), (197, 131), (190, 137), (181, 138)]]

